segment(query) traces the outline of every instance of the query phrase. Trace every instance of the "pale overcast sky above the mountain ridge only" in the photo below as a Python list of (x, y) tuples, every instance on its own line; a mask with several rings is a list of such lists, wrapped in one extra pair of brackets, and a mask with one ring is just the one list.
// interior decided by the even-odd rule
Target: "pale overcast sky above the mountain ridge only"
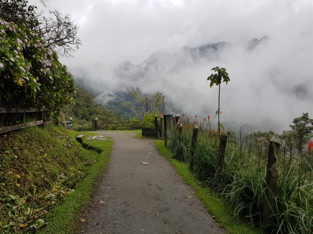
[[(31, 1), (32, 2), (32, 1)], [(310, 0), (50, 0), (80, 25), (83, 47), (74, 56), (138, 64), (162, 48), (271, 35)], [(311, 12), (312, 13), (312, 12)], [(296, 22), (295, 22), (296, 23)], [(307, 22), (304, 28), (311, 25)], [(290, 32), (292, 33), (292, 32)]]

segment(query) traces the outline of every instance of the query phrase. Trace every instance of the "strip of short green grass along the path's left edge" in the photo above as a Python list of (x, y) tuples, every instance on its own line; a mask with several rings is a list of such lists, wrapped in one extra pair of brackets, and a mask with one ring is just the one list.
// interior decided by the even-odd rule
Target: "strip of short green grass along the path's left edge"
[[(86, 137), (95, 136), (96, 133), (84, 133), (69, 131), (71, 137), (84, 134)], [(75, 187), (74, 192), (65, 197), (65, 201), (57, 205), (46, 216), (48, 225), (38, 233), (75, 233), (79, 229), (79, 217), (77, 215), (86, 205), (90, 204), (90, 194), (93, 191), (96, 177), (106, 168), (109, 162), (110, 152), (113, 141), (87, 140), (84, 143), (99, 148), (102, 151), (97, 153), (88, 150), (94, 161), (90, 167), (87, 167), (87, 176), (81, 180)]]

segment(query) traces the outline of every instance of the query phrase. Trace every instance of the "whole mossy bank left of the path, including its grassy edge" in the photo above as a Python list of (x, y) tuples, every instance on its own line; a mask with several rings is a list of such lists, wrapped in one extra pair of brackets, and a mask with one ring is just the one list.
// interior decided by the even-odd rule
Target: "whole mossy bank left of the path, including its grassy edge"
[(69, 233), (74, 228), (113, 145), (84, 139), (102, 151), (87, 150), (75, 140), (79, 134), (51, 124), (0, 135), (1, 233)]

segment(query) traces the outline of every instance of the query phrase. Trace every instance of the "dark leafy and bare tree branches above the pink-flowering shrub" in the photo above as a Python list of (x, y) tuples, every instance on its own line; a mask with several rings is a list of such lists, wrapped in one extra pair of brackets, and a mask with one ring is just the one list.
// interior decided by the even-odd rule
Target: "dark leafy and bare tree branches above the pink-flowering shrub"
[[(45, 6), (43, 4), (44, 10), (48, 10)], [(54, 50), (59, 56), (71, 56), (82, 44), (77, 36), (78, 25), (69, 14), (48, 11), (50, 16), (42, 16), (43, 10), (38, 12), (38, 8), (29, 5), (27, 0), (0, 0), (0, 16), (5, 21), (24, 24), (40, 35), (44, 47)]]

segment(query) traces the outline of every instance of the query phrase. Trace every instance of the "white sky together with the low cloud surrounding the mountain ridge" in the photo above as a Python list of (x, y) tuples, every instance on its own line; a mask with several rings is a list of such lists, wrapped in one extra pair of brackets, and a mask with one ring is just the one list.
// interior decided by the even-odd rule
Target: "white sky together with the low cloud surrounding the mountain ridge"
[[(205, 109), (214, 115), (217, 107), (207, 100), (216, 99), (217, 88), (210, 89), (206, 77), (213, 66), (225, 66), (231, 82), (223, 87), (224, 120), (282, 131), (302, 112), (313, 117), (311, 0), (51, 0), (48, 5), (71, 14), (80, 25), (83, 46), (61, 61), (74, 75), (83, 70), (86, 79), (107, 82), (104, 89), (119, 84), (112, 83), (116, 77), (108, 72), (119, 62), (140, 64), (161, 49), (220, 41), (243, 44), (268, 35), (270, 42), (254, 53), (227, 51), (211, 63), (163, 73), (172, 82), (164, 90), (156, 83), (155, 90), (187, 100), (181, 103), (186, 111), (204, 114), (199, 110)], [(190, 84), (190, 79), (196, 82)], [(178, 83), (180, 94), (173, 92)], [(296, 86), (304, 88), (302, 96), (293, 93)], [(187, 90), (189, 97), (197, 96), (196, 103), (181, 96)]]

